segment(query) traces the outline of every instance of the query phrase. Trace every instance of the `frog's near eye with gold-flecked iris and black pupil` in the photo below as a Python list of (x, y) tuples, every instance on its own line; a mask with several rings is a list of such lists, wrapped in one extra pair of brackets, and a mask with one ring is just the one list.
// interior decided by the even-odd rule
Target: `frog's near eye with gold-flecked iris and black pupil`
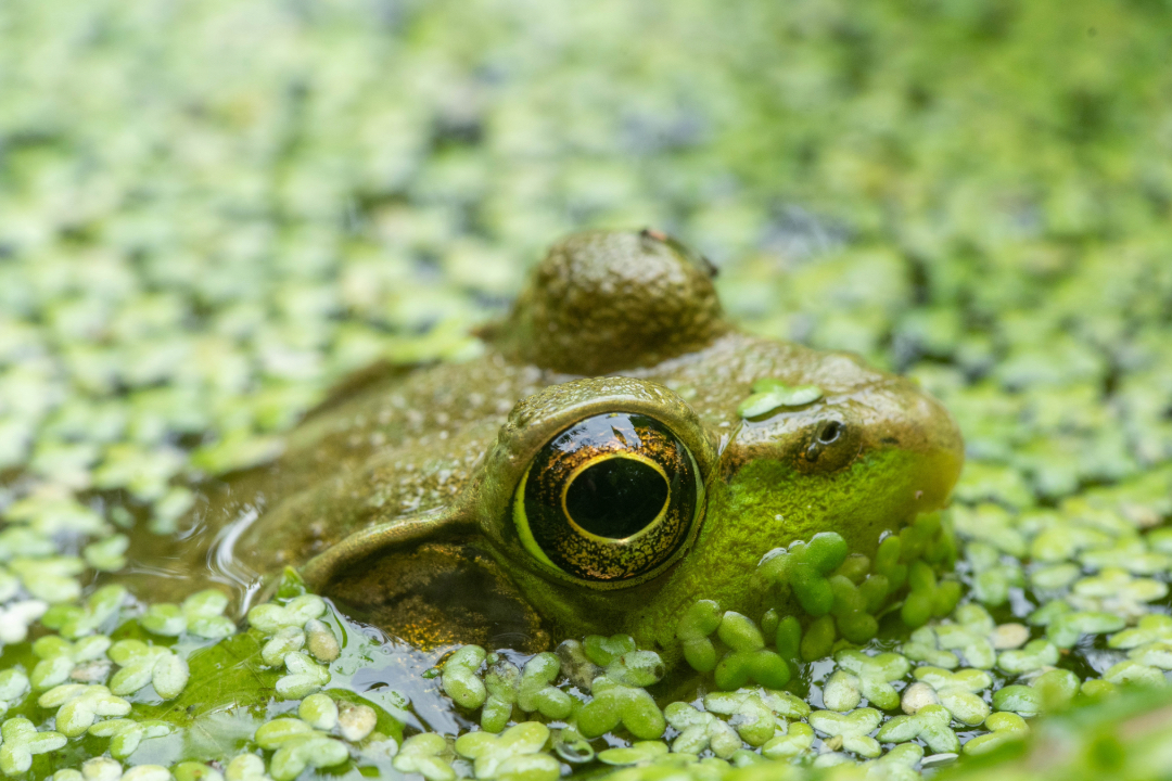
[(691, 454), (667, 426), (607, 412), (541, 447), (517, 486), (513, 520), (538, 561), (582, 581), (621, 582), (681, 549), (701, 491)]

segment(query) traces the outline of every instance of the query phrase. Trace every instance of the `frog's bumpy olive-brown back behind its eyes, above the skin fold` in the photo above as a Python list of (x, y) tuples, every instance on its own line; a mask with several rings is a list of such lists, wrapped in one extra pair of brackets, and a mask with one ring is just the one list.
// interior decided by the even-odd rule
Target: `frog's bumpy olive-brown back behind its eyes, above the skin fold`
[(266, 507), (236, 555), (259, 573), (299, 566), (361, 528), (445, 506), (517, 399), (548, 383), (492, 354), (343, 388), (266, 468)]

